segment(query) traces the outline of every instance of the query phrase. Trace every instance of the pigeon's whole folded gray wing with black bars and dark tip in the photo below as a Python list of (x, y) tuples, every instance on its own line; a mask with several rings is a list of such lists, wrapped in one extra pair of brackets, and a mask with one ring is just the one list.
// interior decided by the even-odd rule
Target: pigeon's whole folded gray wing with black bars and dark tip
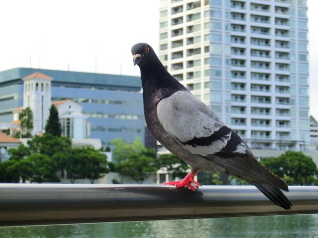
[(288, 190), (284, 181), (255, 159), (239, 135), (191, 93), (178, 91), (162, 99), (157, 114), (165, 131), (184, 149), (234, 176)]

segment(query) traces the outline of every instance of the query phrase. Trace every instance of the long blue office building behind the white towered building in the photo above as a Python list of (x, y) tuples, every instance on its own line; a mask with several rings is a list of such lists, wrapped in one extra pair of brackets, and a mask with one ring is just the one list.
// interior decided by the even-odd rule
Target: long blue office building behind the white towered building
[(22, 78), (35, 72), (53, 77), (52, 101), (71, 99), (79, 103), (91, 125), (91, 138), (105, 147), (121, 137), (131, 143), (144, 141), (145, 117), (140, 77), (36, 68), (13, 68), (0, 72), (0, 122), (13, 120), (12, 110), (23, 106)]

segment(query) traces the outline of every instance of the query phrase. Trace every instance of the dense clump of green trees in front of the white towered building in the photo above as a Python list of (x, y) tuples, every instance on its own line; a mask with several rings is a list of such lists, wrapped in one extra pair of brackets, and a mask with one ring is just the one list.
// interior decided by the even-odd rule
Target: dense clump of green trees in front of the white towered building
[(0, 163), (0, 182), (60, 181), (57, 171), (67, 170), (72, 182), (76, 179), (102, 178), (109, 172), (107, 156), (93, 148), (72, 148), (72, 140), (45, 133), (8, 150), (9, 160)]

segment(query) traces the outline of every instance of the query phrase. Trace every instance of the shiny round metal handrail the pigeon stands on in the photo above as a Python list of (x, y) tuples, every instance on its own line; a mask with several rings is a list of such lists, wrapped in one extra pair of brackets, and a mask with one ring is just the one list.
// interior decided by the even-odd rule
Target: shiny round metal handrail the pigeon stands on
[(318, 213), (317, 186), (290, 186), (290, 211), (254, 186), (0, 184), (0, 226)]

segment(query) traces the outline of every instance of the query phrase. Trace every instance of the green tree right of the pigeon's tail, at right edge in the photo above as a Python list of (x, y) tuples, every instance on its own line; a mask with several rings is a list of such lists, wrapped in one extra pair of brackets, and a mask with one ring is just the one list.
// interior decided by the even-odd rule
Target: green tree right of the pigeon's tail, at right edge
[(278, 157), (262, 159), (260, 163), (289, 185), (312, 185), (318, 176), (312, 157), (303, 152), (286, 151)]

